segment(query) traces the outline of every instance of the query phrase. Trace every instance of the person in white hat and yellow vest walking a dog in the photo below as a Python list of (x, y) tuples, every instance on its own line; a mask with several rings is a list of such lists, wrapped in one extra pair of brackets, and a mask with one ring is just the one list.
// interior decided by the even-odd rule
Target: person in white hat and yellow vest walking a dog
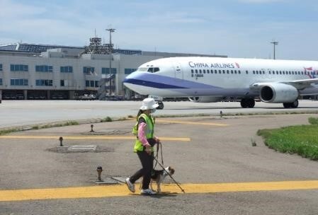
[(154, 118), (152, 113), (156, 111), (159, 105), (155, 103), (153, 98), (145, 98), (142, 100), (142, 106), (137, 114), (137, 123), (132, 129), (132, 133), (137, 136), (134, 146), (134, 152), (137, 153), (142, 168), (126, 178), (126, 185), (131, 192), (135, 192), (134, 183), (143, 177), (141, 194), (157, 194), (149, 189), (149, 184), (154, 165), (154, 145), (161, 144), (157, 136), (154, 136)]

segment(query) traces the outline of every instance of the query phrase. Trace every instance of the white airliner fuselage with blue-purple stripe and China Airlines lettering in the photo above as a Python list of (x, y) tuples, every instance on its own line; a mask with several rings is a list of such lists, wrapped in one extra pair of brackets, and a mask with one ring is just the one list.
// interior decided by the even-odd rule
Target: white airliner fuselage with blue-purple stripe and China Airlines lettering
[[(318, 62), (216, 57), (171, 57), (142, 64), (124, 84), (142, 95), (257, 96), (253, 83), (314, 79)], [(306, 88), (300, 94), (318, 93)]]

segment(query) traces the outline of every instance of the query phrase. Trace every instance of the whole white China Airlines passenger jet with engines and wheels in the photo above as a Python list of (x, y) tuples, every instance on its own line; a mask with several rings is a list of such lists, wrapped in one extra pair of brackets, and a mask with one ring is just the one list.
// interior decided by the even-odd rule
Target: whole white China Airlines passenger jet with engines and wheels
[[(138, 67), (123, 81), (141, 95), (188, 97), (213, 103), (240, 98), (242, 108), (254, 108), (255, 98), (297, 108), (300, 95), (318, 94), (318, 62), (221, 57), (169, 57)], [(164, 104), (159, 101), (159, 109)]]

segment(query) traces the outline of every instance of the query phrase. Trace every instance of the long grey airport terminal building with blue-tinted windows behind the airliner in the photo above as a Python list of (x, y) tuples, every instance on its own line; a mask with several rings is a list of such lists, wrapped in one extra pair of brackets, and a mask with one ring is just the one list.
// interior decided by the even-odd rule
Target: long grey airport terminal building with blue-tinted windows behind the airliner
[[(87, 47), (14, 43), (0, 45), (0, 96), (5, 99), (76, 99), (95, 95), (130, 99), (125, 76), (153, 59), (224, 55), (113, 49), (92, 37)], [(0, 99), (1, 99), (0, 97)]]

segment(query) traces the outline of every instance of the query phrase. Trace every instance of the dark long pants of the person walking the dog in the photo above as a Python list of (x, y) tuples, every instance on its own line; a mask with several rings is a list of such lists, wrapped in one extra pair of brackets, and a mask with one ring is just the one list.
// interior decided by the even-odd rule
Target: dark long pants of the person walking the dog
[(150, 179), (152, 177), (152, 168), (154, 166), (154, 153), (151, 156), (146, 151), (137, 151), (137, 156), (142, 163), (142, 169), (138, 170), (130, 177), (130, 182), (135, 183), (136, 180), (143, 177), (142, 189), (148, 189)]

